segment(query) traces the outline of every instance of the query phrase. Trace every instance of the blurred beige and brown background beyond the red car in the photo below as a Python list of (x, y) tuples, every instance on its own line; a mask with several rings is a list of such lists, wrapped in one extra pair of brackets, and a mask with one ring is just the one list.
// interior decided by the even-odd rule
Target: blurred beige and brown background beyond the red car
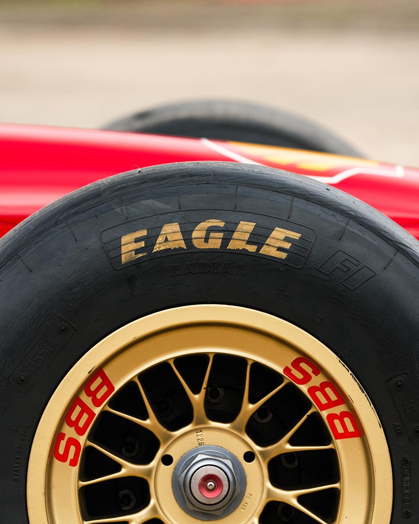
[(0, 0), (0, 121), (272, 104), (419, 166), (419, 0)]

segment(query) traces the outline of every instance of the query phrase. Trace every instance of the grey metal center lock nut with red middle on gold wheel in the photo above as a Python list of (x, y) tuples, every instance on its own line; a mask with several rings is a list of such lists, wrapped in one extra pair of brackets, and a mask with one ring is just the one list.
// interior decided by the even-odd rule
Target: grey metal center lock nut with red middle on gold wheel
[(202, 446), (183, 455), (174, 468), (173, 493), (191, 516), (216, 520), (240, 504), (246, 475), (237, 458), (218, 446)]

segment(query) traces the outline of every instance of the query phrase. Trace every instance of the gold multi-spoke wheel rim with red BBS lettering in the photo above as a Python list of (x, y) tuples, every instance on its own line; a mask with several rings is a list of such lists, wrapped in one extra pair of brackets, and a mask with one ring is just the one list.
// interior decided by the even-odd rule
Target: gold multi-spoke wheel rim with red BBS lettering
[[(29, 521), (388, 523), (390, 457), (371, 406), (286, 321), (225, 305), (149, 315), (87, 352), (51, 397), (30, 453)], [(221, 514), (172, 489), (182, 457), (207, 446), (245, 472)]]

